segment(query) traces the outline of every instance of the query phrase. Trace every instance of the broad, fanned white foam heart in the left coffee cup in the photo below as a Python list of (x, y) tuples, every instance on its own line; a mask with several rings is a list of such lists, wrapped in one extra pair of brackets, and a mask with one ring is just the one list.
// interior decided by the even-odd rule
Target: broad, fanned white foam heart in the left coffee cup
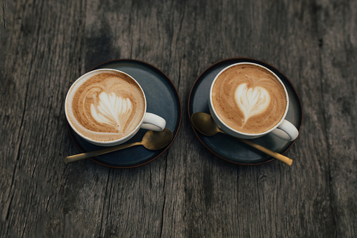
[(90, 105), (90, 114), (100, 124), (112, 126), (121, 131), (121, 126), (126, 124), (133, 110), (129, 98), (121, 98), (115, 93), (100, 93), (99, 103)]

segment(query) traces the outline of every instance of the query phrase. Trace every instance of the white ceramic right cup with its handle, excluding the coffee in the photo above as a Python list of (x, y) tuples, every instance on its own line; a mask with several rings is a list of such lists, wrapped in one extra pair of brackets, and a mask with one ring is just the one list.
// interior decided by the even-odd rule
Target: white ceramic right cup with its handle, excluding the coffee
[[(213, 91), (213, 85), (215, 84), (215, 81), (217, 80), (217, 78), (220, 76), (220, 74), (222, 74), (222, 72), (227, 70), (229, 67), (234, 67), (234, 65), (242, 65), (242, 64), (256, 65), (256, 66), (264, 68), (265, 70), (269, 71), (272, 75), (274, 75), (274, 77), (276, 77), (276, 79), (278, 79), (278, 81), (284, 88), (285, 95), (286, 95), (285, 112), (283, 114), (281, 121), (279, 121), (278, 124), (276, 124), (276, 126), (274, 126), (273, 128), (270, 128), (268, 131), (264, 131), (262, 133), (243, 133), (241, 131), (236, 131), (234, 128), (229, 127), (227, 124), (224, 123), (224, 121), (222, 121), (222, 119), (220, 119), (220, 116), (217, 114), (217, 112), (215, 111), (215, 108), (213, 107), (212, 91)], [(297, 136), (299, 135), (299, 131), (297, 131), (297, 128), (290, 121), (285, 120), (286, 114), (288, 113), (288, 109), (289, 109), (289, 96), (288, 96), (288, 91), (286, 91), (285, 85), (283, 84), (281, 79), (279, 79), (279, 77), (276, 74), (274, 74), (274, 72), (272, 72), (267, 67), (264, 67), (262, 65), (258, 65), (258, 64), (252, 63), (252, 62), (239, 62), (239, 63), (233, 64), (233, 65), (229, 65), (228, 67), (225, 67), (221, 72), (219, 72), (217, 74), (217, 76), (213, 80), (213, 83), (210, 86), (209, 108), (210, 108), (210, 114), (213, 117), (213, 120), (215, 121), (215, 123), (218, 126), (220, 126), (220, 128), (225, 133), (232, 135), (236, 138), (253, 139), (253, 138), (261, 137), (263, 135), (267, 135), (268, 133), (272, 133), (272, 134), (278, 136), (279, 138), (282, 138), (283, 140), (292, 141), (292, 140), (295, 140), (297, 138)]]

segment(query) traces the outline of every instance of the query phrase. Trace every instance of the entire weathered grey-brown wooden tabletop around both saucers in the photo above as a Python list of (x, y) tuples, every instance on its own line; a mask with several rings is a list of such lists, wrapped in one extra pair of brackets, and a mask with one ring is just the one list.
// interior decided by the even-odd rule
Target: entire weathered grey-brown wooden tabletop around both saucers
[[(356, 15), (353, 0), (1, 1), (0, 237), (356, 237)], [(291, 167), (229, 164), (191, 131), (194, 80), (237, 56), (269, 62), (297, 88)], [(67, 90), (119, 58), (172, 79), (180, 133), (139, 168), (65, 166), (79, 152)]]

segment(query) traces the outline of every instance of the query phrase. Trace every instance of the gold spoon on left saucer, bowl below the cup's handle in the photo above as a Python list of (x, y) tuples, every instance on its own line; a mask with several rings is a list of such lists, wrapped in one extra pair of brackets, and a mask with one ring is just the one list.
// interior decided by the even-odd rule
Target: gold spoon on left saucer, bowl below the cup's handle
[(173, 132), (170, 131), (170, 129), (168, 129), (168, 128), (163, 129), (163, 131), (147, 131), (147, 133), (144, 134), (142, 141), (140, 141), (140, 142), (116, 145), (114, 147), (107, 147), (102, 150), (96, 150), (96, 151), (92, 151), (92, 152), (86, 152), (83, 154), (71, 155), (71, 156), (65, 157), (65, 163), (66, 164), (72, 163), (74, 161), (78, 161), (81, 159), (87, 159), (90, 157), (95, 157), (100, 154), (106, 154), (109, 152), (125, 149), (125, 148), (132, 147), (135, 145), (144, 145), (144, 147), (147, 148), (148, 150), (160, 150), (163, 147), (166, 147), (166, 145), (168, 145), (168, 143), (170, 143), (170, 141), (172, 139), (173, 139)]

